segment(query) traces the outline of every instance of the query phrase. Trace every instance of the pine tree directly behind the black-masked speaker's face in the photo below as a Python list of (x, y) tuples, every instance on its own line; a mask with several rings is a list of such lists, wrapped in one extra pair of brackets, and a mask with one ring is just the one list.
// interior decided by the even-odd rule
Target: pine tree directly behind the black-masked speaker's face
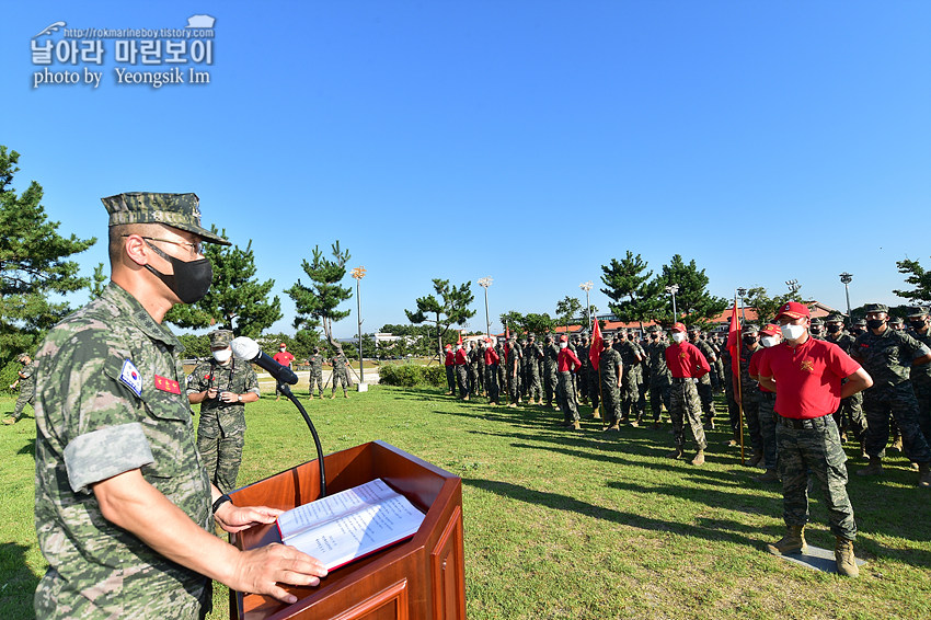
[[(217, 232), (216, 227), (211, 227)], [(226, 230), (220, 233), (226, 237)], [(275, 286), (274, 279), (255, 279), (255, 255), (250, 240), (245, 249), (239, 245), (205, 243), (204, 255), (210, 259), (214, 280), (204, 299), (189, 305), (179, 305), (165, 314), (181, 328), (231, 330), (238, 336), (257, 337), (281, 318), (278, 296), (268, 301)]]

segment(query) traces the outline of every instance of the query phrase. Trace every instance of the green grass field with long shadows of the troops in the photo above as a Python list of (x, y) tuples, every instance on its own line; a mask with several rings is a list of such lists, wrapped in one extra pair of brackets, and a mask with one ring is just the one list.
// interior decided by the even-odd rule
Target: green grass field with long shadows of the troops
[[(471, 619), (931, 617), (931, 493), (898, 455), (882, 480), (851, 477), (857, 553), (870, 562), (846, 579), (762, 550), (784, 529), (778, 487), (752, 481), (760, 470), (740, 466), (722, 430), (709, 434), (709, 462), (694, 468), (663, 458), (668, 423), (608, 436), (600, 422), (573, 433), (552, 410), (460, 403), (438, 390), (349, 395), (307, 403), (324, 451), (382, 439), (462, 478)], [(0, 411), (12, 406), (0, 399)], [(266, 395), (246, 416), (240, 484), (313, 458), (289, 402)], [(3, 619), (33, 617), (45, 571), (33, 527), (34, 437), (32, 417), (0, 427)], [(814, 495), (809, 543), (832, 549)], [(228, 617), (222, 587), (215, 606), (211, 618)]]

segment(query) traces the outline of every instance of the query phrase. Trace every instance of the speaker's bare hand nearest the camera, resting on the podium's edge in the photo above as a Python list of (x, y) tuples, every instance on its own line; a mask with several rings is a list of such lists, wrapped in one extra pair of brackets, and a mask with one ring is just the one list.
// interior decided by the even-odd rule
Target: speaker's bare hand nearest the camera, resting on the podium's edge
[(320, 585), (326, 569), (319, 560), (294, 547), (273, 543), (239, 554), (229, 585), (238, 592), (263, 594), (283, 602), (297, 602), (297, 597), (278, 584), (295, 586)]

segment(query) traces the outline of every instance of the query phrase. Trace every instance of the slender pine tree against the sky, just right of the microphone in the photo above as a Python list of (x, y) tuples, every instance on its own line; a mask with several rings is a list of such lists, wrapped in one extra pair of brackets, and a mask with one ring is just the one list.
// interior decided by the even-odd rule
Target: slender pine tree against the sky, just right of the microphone
[[(298, 279), (295, 285), (287, 289), (291, 299), (295, 300), (297, 307), (297, 317), (295, 318), (295, 329), (298, 333), (306, 330), (313, 330), (323, 324), (323, 335), (326, 342), (334, 348), (341, 348), (340, 343), (333, 340), (333, 322), (341, 321), (349, 315), (349, 310), (337, 310), (340, 303), (352, 299), (353, 289), (350, 287), (341, 286), (340, 283), (346, 277), (346, 263), (349, 261), (349, 251), (340, 249), (340, 241), (336, 240), (331, 246), (333, 259), (323, 256), (320, 246), (313, 248), (313, 261), (308, 262), (304, 259), (301, 262), (303, 273), (308, 275), (311, 284), (304, 285)], [(302, 334), (302, 341), (312, 340), (309, 334)]]

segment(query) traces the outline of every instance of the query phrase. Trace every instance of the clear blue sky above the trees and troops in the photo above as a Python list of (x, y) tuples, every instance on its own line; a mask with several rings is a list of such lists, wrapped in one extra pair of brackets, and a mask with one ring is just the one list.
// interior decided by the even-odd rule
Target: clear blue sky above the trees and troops
[[(56, 21), (194, 14), (216, 18), (209, 84), (116, 83), (141, 67), (110, 39), (102, 67), (49, 68), (103, 71), (99, 88), (33, 88), (31, 41)], [(14, 3), (0, 143), (64, 233), (102, 238), (102, 196), (197, 193), (276, 280), (275, 331), (301, 259), (336, 239), (368, 269), (369, 332), (434, 277), (492, 276), (493, 329), (584, 303), (585, 280), (606, 310), (600, 265), (627, 250), (657, 272), (694, 259), (723, 297), (794, 278), (842, 309), (847, 271), (853, 306), (894, 305), (895, 262), (931, 266), (929, 23), (923, 1)], [(90, 275), (103, 243), (78, 260)]]

